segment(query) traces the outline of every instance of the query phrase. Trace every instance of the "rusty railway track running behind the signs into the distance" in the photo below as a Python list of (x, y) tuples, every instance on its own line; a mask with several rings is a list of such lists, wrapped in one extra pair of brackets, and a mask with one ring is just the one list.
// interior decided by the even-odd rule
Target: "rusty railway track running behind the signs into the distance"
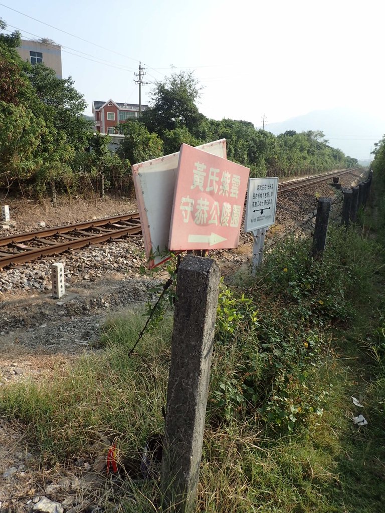
[[(336, 171), (315, 177), (279, 184), (278, 194), (307, 187), (354, 171)], [(117, 215), (111, 218), (56, 226), (34, 232), (0, 238), (0, 270), (11, 264), (24, 264), (40, 257), (63, 253), (142, 232), (139, 213)]]

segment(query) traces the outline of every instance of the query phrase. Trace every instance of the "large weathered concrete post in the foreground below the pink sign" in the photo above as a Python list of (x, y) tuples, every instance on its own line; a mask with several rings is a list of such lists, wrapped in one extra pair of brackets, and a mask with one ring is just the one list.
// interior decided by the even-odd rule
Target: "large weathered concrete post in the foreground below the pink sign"
[(169, 512), (194, 511), (219, 279), (211, 259), (187, 255), (179, 266), (161, 472)]

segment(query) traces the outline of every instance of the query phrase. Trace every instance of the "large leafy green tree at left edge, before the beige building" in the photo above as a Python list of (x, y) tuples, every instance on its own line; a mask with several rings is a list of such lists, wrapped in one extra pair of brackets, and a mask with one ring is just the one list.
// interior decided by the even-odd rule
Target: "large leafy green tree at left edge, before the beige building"
[[(0, 28), (5, 27), (2, 21)], [(28, 181), (40, 192), (52, 180), (68, 186), (69, 164), (92, 133), (81, 115), (86, 103), (70, 78), (23, 62), (18, 45), (18, 32), (0, 34), (0, 184)]]

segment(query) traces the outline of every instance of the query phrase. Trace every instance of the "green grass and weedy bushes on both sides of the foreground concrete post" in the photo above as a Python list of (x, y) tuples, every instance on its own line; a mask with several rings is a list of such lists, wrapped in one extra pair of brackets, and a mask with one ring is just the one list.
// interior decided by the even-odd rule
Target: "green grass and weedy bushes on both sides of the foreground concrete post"
[[(322, 261), (286, 239), (256, 278), (221, 283), (197, 511), (382, 510), (385, 202), (372, 200), (364, 228), (330, 227)], [(158, 510), (159, 464), (143, 447), (164, 425), (174, 284), (163, 296), (139, 342), (146, 318), (127, 313), (106, 324), (103, 350), (0, 391), (42, 464), (82, 456), (107, 482), (98, 464), (114, 443), (120, 485), (93, 498), (104, 511)]]

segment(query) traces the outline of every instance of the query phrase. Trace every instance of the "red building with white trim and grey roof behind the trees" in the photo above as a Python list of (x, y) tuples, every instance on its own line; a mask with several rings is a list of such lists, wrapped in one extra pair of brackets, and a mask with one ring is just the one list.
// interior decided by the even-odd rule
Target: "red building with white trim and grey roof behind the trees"
[[(142, 105), (142, 111), (147, 105)], [(135, 119), (139, 115), (139, 105), (132, 103), (119, 103), (113, 100), (107, 102), (92, 102), (92, 114), (95, 123), (95, 131), (100, 133), (115, 133), (115, 126)]]

